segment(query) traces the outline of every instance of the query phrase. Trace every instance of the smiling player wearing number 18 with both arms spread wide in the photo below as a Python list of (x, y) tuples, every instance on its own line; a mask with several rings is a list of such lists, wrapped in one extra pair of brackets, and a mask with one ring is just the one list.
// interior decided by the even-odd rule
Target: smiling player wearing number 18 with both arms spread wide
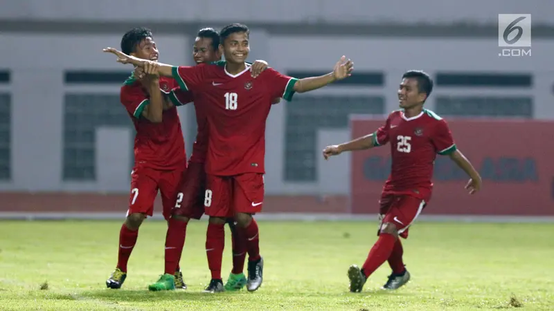
[(247, 237), (248, 283), (254, 291), (262, 284), (263, 260), (259, 249), (259, 231), (253, 214), (262, 210), (265, 173), (265, 123), (275, 97), (292, 100), (295, 92), (321, 88), (349, 77), (353, 62), (341, 57), (332, 73), (320, 77), (295, 79), (267, 68), (254, 81), (246, 73), (249, 54), (249, 29), (233, 23), (221, 32), (225, 62), (193, 67), (174, 67), (126, 55), (105, 48), (123, 64), (157, 67), (160, 75), (175, 77), (184, 90), (204, 97), (208, 117), (208, 154), (204, 206), (210, 216), (206, 233), (206, 253), (212, 280), (206, 292), (221, 292), (221, 260), (224, 248), (225, 218), (235, 214), (238, 227)]

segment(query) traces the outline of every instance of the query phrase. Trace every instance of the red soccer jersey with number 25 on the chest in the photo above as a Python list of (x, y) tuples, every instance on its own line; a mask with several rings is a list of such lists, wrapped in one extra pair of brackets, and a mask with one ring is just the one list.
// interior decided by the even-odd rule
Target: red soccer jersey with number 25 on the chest
[(429, 199), (436, 154), (456, 151), (452, 133), (443, 118), (424, 109), (415, 117), (393, 111), (386, 124), (373, 133), (373, 144), (391, 143), (392, 168), (384, 192), (413, 194)]

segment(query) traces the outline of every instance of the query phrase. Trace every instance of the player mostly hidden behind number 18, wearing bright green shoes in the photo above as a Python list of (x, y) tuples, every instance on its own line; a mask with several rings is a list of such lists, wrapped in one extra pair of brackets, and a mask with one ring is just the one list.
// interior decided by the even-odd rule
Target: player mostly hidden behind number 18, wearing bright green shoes
[[(213, 28), (204, 28), (199, 30), (193, 46), (193, 59), (196, 64), (205, 64), (217, 62), (221, 59), (220, 34)], [(252, 64), (252, 77), (256, 78), (263, 70), (267, 68), (264, 61), (256, 61)], [(142, 68), (136, 68), (135, 73), (143, 75)], [(200, 219), (204, 214), (204, 193), (206, 191), (206, 173), (204, 172), (204, 162), (206, 162), (206, 153), (208, 151), (208, 120), (206, 113), (202, 110), (202, 95), (193, 94), (190, 91), (183, 91), (180, 88), (172, 90), (168, 96), (177, 106), (188, 103), (191, 97), (194, 97), (195, 113), (197, 120), (197, 136), (193, 145), (193, 154), (188, 160), (188, 167), (182, 181), (181, 189), (177, 194), (175, 207), (169, 221), (168, 234), (166, 236), (166, 267), (164, 274), (160, 279), (148, 286), (150, 290), (173, 290), (174, 282), (173, 272), (177, 269), (183, 251), (186, 239), (186, 227), (188, 221)], [(233, 215), (227, 219), (227, 224), (231, 228), (233, 243), (233, 270), (229, 274), (229, 279), (225, 284), (226, 290), (240, 290), (246, 285), (247, 279), (242, 270), (244, 270), (244, 261), (247, 256), (246, 238), (235, 228)], [(184, 282), (181, 282), (184, 285)]]

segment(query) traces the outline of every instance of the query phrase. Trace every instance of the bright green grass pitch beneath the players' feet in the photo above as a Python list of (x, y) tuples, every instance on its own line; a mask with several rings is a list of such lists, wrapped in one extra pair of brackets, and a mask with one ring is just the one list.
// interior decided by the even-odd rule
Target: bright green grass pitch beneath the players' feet
[(0, 310), (476, 310), (517, 302), (524, 310), (554, 308), (551, 224), (418, 223), (404, 242), (410, 283), (379, 290), (385, 263), (361, 294), (348, 292), (346, 270), (363, 263), (376, 223), (260, 222), (262, 288), (222, 294), (201, 292), (209, 281), (205, 222), (188, 226), (181, 262), (188, 290), (146, 290), (163, 271), (163, 222), (143, 225), (124, 288), (108, 290), (119, 228), (114, 221), (1, 221)]

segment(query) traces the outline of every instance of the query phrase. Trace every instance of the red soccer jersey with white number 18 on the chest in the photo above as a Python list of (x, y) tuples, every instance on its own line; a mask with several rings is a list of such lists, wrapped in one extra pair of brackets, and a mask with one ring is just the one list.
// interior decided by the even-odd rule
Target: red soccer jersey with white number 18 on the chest
[(292, 100), (296, 79), (267, 68), (256, 79), (250, 68), (231, 75), (225, 62), (173, 68), (182, 89), (201, 95), (208, 118), (206, 173), (265, 173), (265, 122), (271, 101)]

